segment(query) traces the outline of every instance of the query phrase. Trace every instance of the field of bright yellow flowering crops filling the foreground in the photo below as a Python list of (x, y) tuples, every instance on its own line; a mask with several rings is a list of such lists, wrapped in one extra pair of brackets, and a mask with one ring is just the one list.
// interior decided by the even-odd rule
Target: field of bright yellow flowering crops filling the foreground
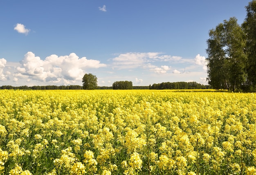
[(0, 90), (0, 174), (256, 174), (256, 94)]

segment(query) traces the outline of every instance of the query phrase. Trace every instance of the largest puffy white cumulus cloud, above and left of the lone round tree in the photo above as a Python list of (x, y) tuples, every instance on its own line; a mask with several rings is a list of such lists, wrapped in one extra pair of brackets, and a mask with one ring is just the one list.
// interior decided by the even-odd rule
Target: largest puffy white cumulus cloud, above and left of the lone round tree
[(69, 56), (51, 55), (41, 60), (33, 52), (27, 52), (21, 66), (16, 67), (13, 74), (16, 78), (30, 78), (32, 80), (65, 84), (72, 84), (81, 80), (88, 68), (105, 67), (97, 60), (88, 60), (85, 57), (79, 58), (75, 53)]

